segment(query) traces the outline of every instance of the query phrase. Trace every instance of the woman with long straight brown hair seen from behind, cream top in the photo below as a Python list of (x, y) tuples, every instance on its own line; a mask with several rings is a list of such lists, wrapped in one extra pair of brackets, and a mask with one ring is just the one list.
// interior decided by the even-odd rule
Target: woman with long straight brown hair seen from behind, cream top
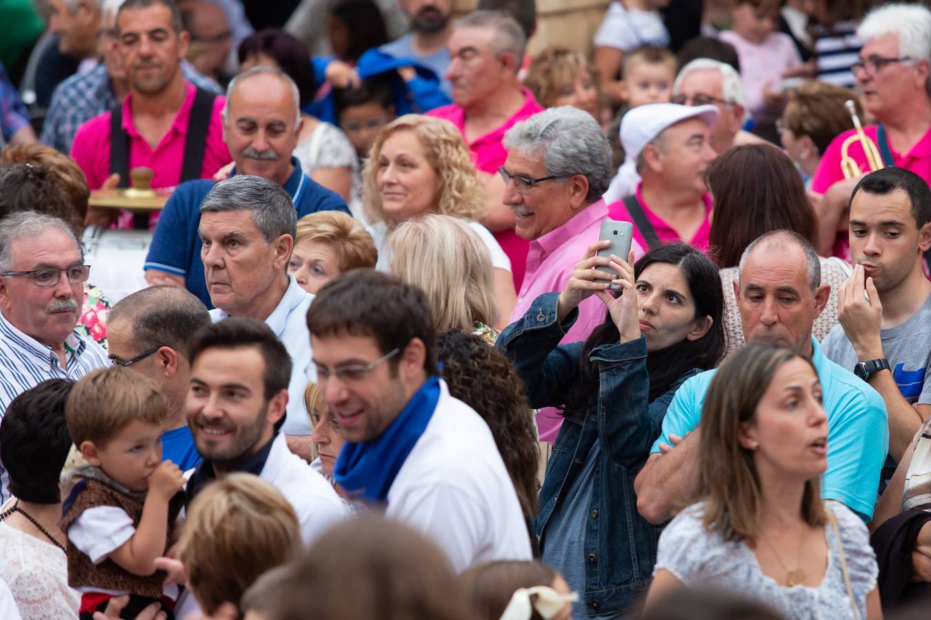
[[(746, 144), (722, 152), (708, 166), (708, 189), (714, 196), (708, 248), (721, 268), (726, 352), (730, 353), (745, 343), (734, 295), (737, 266), (744, 250), (770, 231), (797, 232), (816, 244), (818, 225), (795, 166), (785, 153), (769, 144)], [(836, 291), (851, 270), (840, 258), (819, 260), (821, 282), (831, 288), (828, 305), (816, 318), (812, 331), (820, 341), (837, 324)]]

